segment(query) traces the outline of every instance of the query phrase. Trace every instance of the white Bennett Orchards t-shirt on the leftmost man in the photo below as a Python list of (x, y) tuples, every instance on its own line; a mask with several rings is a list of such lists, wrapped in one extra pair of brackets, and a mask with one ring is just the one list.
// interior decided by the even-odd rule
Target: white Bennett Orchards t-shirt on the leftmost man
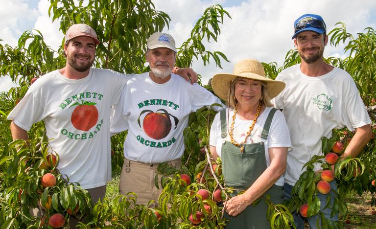
[(111, 106), (129, 77), (90, 69), (87, 77), (72, 80), (52, 71), (30, 86), (8, 119), (26, 131), (44, 120), (60, 172), (83, 188), (105, 185), (111, 180)]

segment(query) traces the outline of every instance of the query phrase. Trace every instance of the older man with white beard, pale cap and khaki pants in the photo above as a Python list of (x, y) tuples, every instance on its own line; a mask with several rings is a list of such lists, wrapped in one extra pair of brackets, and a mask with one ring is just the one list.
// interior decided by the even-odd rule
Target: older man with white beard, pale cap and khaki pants
[[(151, 71), (132, 77), (114, 106), (111, 133), (128, 130), (119, 190), (137, 194), (137, 204), (157, 201), (161, 189), (154, 185), (159, 163), (180, 168), (184, 152), (183, 130), (188, 116), (198, 108), (221, 103), (198, 84), (190, 85), (173, 72), (174, 39), (154, 33), (147, 42), (146, 61)], [(216, 107), (219, 108), (219, 107)]]

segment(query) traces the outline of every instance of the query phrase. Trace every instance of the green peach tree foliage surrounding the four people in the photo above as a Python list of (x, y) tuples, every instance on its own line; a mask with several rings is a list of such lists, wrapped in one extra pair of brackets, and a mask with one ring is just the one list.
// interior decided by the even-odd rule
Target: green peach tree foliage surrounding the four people
[[(78, 3), (74, 0), (50, 0), (50, 4), (49, 13), (53, 15), (52, 20), (60, 22), (60, 30), (63, 33), (73, 23), (87, 23), (94, 27), (101, 41), (96, 47), (95, 67), (114, 69), (123, 73), (141, 73), (149, 70), (145, 67), (143, 58), (146, 39), (152, 33), (168, 28), (170, 22), (168, 15), (156, 10), (150, 0), (88, 0)], [(178, 66), (190, 66), (193, 58), (201, 59), (204, 65), (214, 61), (218, 67), (221, 67), (221, 60), (228, 61), (222, 52), (206, 50), (203, 45), (204, 41), (217, 41), (220, 24), (225, 16), (230, 18), (220, 5), (212, 5), (204, 11), (192, 29), (190, 37), (178, 48)], [(339, 27), (329, 33), (330, 44), (347, 42), (345, 51), (349, 52), (349, 57), (344, 60), (329, 57), (326, 61), (352, 75), (365, 105), (375, 118), (375, 30), (366, 28), (364, 33), (358, 33), (354, 38), (352, 34), (347, 33), (345, 24), (338, 25)], [(56, 169), (56, 165), (43, 167), (43, 164), (51, 162), (47, 159), (51, 149), (47, 139), (43, 139), (43, 122), (33, 125), (29, 131), (29, 142), (12, 141), (8, 129), (10, 122), (6, 116), (24, 96), (32, 78), (42, 77), (51, 70), (65, 66), (65, 58), (61, 55), (63, 45), (64, 40), (58, 50), (51, 49), (44, 42), (41, 32), (35, 29), (25, 31), (16, 47), (0, 45), (0, 76), (8, 75), (19, 85), (8, 93), (0, 93), (1, 227), (47, 228), (49, 226), (44, 223), (47, 223), (52, 214), (59, 212), (66, 219), (80, 219), (86, 216), (80, 225), (82, 228), (192, 228), (195, 226), (190, 223), (189, 216), (200, 211), (204, 218), (197, 228), (223, 228), (225, 219), (222, 204), (228, 200), (232, 188), (224, 185), (220, 159), (212, 161), (207, 149), (211, 121), (215, 115), (210, 108), (201, 108), (189, 116), (188, 127), (184, 130), (186, 151), (182, 157), (181, 170), (165, 164), (160, 165), (156, 184), (163, 188), (163, 193), (159, 198), (160, 205), (155, 209), (137, 205), (134, 193), (128, 193), (125, 197), (112, 196), (111, 199), (103, 199), (92, 206), (88, 192), (77, 183), (69, 184), (68, 179)], [(282, 69), (298, 63), (300, 57), (297, 50), (290, 50), (282, 67), (278, 67), (275, 62), (263, 63), (263, 66), (267, 76), (274, 79)], [(205, 87), (211, 91), (210, 86)], [(375, 129), (373, 131), (375, 132)], [(122, 133), (112, 137), (113, 174), (118, 174), (122, 166), (122, 145), (125, 136), (126, 133)], [(330, 139), (323, 139), (323, 152), (328, 153), (335, 140), (340, 140), (346, 145), (351, 137), (352, 133), (349, 131), (336, 131)], [(373, 139), (358, 159), (346, 159), (335, 164), (339, 193), (334, 193), (332, 214), (339, 212), (345, 219), (347, 206), (341, 196), (354, 190), (359, 195), (371, 192), (371, 206), (375, 206), (376, 187), (371, 184), (371, 181), (376, 179), (375, 150)], [(54, 154), (58, 161), (58, 152)], [(269, 206), (268, 218), (271, 228), (294, 227), (291, 212), (299, 211), (299, 207), (306, 202), (309, 205), (308, 216), (318, 214), (320, 202), (317, 198), (316, 183), (320, 180), (320, 175), (313, 171), (313, 164), (319, 162), (322, 163), (323, 169), (328, 169), (329, 165), (324, 163), (323, 158), (315, 157), (305, 165), (306, 171), (293, 188), (293, 200), (286, 203), (286, 206), (275, 206), (268, 202), (268, 198), (262, 200)], [(358, 168), (361, 171), (360, 175), (353, 176)], [(55, 186), (45, 188), (41, 185), (41, 178), (46, 173), (56, 176)], [(193, 182), (184, 183), (181, 179), (183, 173)], [(203, 200), (197, 194), (202, 188), (209, 191), (208, 199)], [(221, 190), (222, 201), (214, 199), (213, 193), (217, 189)], [(49, 197), (51, 207), (41, 210), (44, 216), (31, 216), (30, 208), (47, 206)], [(211, 212), (207, 211), (208, 206)], [(70, 216), (71, 214), (73, 216)], [(322, 215), (320, 217), (323, 228), (334, 226)], [(338, 222), (337, 226), (341, 226), (341, 222)]]

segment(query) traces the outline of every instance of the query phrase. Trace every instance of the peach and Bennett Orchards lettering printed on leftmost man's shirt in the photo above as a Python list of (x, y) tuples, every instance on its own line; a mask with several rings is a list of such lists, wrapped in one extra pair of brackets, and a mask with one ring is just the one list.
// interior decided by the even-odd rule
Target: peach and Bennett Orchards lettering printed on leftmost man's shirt
[[(94, 135), (100, 131), (103, 123), (103, 119), (98, 122), (99, 114), (95, 106), (97, 103), (101, 102), (102, 98), (103, 95), (97, 92), (81, 92), (66, 98), (64, 102), (59, 105), (59, 107), (62, 110), (67, 108), (72, 111), (72, 126), (76, 130), (84, 131), (84, 133), (73, 133), (67, 129), (62, 129), (60, 133), (75, 140), (83, 140), (94, 137)], [(93, 100), (96, 100), (97, 103), (93, 102)], [(94, 127), (94, 130), (88, 132)]]

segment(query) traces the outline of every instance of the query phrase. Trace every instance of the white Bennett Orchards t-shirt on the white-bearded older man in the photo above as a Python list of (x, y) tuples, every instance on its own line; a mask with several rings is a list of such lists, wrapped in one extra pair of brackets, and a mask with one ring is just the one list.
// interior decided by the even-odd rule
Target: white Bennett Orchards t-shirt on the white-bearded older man
[(220, 100), (198, 84), (190, 85), (175, 74), (168, 82), (157, 84), (146, 72), (129, 79), (124, 87), (111, 115), (111, 133), (129, 129), (124, 142), (126, 159), (144, 163), (175, 160), (185, 149), (183, 130), (189, 114), (213, 103)]

